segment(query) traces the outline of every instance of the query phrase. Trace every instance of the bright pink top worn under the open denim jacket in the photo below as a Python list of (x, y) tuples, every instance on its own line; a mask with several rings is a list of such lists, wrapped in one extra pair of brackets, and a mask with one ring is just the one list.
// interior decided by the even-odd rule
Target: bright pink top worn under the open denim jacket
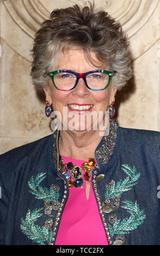
[[(64, 163), (72, 162), (77, 166), (84, 162), (61, 157)], [(55, 245), (108, 245), (93, 187), (90, 186), (87, 200), (85, 184), (83, 179), (83, 187), (69, 188), (69, 197), (61, 216)]]

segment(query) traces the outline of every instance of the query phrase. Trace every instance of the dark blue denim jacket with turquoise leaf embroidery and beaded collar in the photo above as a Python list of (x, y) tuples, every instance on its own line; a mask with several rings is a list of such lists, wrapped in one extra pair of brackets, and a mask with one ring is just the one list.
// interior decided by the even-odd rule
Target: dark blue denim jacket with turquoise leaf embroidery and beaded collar
[[(109, 245), (160, 245), (159, 135), (112, 120), (97, 145), (91, 185)], [(54, 245), (69, 193), (58, 137), (56, 130), (0, 156), (1, 245)]]

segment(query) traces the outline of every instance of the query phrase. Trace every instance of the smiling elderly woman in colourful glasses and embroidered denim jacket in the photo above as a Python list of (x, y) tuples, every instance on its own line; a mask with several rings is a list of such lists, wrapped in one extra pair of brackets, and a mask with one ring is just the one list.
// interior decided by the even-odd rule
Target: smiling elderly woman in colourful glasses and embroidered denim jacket
[(131, 75), (126, 35), (105, 11), (74, 5), (42, 23), (31, 76), (58, 127), (1, 155), (2, 245), (160, 243), (159, 132), (111, 119)]

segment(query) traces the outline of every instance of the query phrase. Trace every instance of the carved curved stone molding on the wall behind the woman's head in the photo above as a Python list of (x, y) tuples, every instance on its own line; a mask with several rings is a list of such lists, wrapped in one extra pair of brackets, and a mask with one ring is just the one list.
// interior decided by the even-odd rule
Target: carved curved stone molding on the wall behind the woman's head
[[(10, 36), (7, 36), (7, 34), (11, 33), (10, 29), (13, 29), (13, 26), (8, 27), (8, 33), (4, 32), (2, 29), (2, 38), (9, 45), (12, 44), (11, 47), (13, 47), (17, 53), (30, 61), (29, 47), (27, 47), (24, 52), (23, 48), (21, 49), (21, 47), (23, 47), (22, 44), (17, 44), (17, 41), (22, 40), (23, 42), (22, 37), (24, 36), (25, 40), (27, 38), (28, 46), (32, 45), (35, 32), (40, 28), (40, 23), (48, 19), (53, 9), (64, 8), (76, 3), (82, 4), (83, 2), (85, 1), (3, 0), (4, 8), (8, 12), (13, 26), (17, 27), (14, 30), (18, 31), (18, 29), (21, 29), (21, 33), (17, 33), (15, 45), (8, 39)], [(136, 41), (136, 49), (134, 50), (134, 47), (132, 47), (133, 59), (138, 58), (158, 40), (159, 34), (157, 33), (157, 36), (155, 36), (156, 25), (150, 29), (150, 36), (146, 39), (144, 47), (141, 47), (141, 40), (137, 41), (137, 36), (142, 37), (144, 34), (146, 38), (145, 26), (148, 26), (148, 23), (152, 26), (151, 20), (155, 20), (154, 14), (156, 15), (156, 11), (159, 10), (159, 0), (99, 0), (95, 1), (95, 4), (97, 8), (103, 8), (121, 23), (131, 40), (131, 46)], [(20, 38), (20, 36), (22, 37)]]

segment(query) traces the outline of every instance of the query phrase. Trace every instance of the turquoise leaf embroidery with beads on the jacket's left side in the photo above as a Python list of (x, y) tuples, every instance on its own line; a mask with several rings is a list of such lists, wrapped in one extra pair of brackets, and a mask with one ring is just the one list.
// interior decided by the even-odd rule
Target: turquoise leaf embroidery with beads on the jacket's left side
[[(28, 181), (28, 185), (31, 189), (30, 193), (34, 194), (38, 199), (45, 201), (45, 214), (50, 215), (52, 209), (58, 210), (59, 203), (59, 186), (52, 184), (50, 188), (40, 186), (40, 182), (46, 178), (46, 173), (39, 173), (36, 176), (32, 176)], [(51, 203), (51, 205), (50, 205)], [(51, 229), (53, 221), (51, 218), (45, 221), (45, 226), (40, 227), (34, 222), (38, 220), (43, 214), (40, 213), (44, 208), (35, 209), (32, 212), (27, 211), (26, 218), (21, 219), (21, 230), (28, 236), (29, 239), (34, 240), (41, 245), (47, 242), (48, 245), (52, 244), (53, 231)], [(50, 215), (52, 216), (52, 215)]]

